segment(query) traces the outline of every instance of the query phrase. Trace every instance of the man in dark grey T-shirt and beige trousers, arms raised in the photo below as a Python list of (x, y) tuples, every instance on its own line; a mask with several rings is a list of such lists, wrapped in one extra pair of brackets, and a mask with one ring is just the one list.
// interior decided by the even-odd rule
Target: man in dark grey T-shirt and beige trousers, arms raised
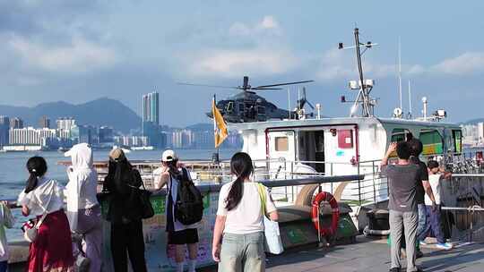
[[(396, 150), (398, 163), (388, 165), (388, 158)], [(407, 142), (392, 143), (382, 160), (382, 174), (388, 179), (390, 210), (391, 272), (399, 272), (402, 232), (408, 244), (417, 240), (418, 208), (417, 191), (421, 170), (410, 162), (410, 147)], [(407, 272), (421, 271), (415, 266), (415, 247), (407, 246)]]

